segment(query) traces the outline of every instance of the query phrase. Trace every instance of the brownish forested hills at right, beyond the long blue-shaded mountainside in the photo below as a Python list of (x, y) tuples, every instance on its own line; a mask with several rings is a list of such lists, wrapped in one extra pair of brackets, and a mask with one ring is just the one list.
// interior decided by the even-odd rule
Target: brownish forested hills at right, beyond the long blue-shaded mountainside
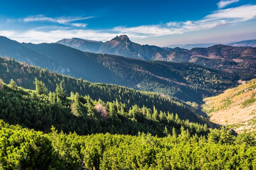
[(256, 48), (214, 45), (208, 48), (193, 48), (185, 52), (168, 52), (156, 55), (157, 60), (191, 62), (238, 75), (242, 80), (255, 78)]

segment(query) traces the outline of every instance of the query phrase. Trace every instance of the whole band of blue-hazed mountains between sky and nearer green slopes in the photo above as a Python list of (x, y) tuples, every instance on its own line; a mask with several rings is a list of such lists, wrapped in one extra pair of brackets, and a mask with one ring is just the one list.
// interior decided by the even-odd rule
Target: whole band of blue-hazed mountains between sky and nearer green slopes
[[(84, 41), (76, 39), (80, 44)], [(153, 91), (197, 103), (234, 86), (235, 80), (249, 80), (256, 74), (253, 47), (215, 45), (192, 50), (170, 49), (141, 46), (125, 35), (106, 43), (89, 41), (89, 44), (100, 45), (99, 51), (124, 56), (136, 53), (135, 49), (141, 50), (143, 56), (154, 55), (158, 60), (83, 52), (58, 43), (19, 43), (6, 37), (0, 37), (0, 55), (90, 82)]]

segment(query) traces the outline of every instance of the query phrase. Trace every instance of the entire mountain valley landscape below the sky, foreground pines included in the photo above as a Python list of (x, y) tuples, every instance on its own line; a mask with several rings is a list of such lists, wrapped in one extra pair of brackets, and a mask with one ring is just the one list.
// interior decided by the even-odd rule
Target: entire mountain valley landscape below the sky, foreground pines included
[(256, 167), (254, 48), (81, 50), (0, 37), (0, 168)]

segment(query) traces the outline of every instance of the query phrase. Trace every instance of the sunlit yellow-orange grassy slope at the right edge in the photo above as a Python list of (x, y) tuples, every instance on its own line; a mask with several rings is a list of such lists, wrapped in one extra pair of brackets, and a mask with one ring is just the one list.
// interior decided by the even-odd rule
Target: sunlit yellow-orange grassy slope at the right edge
[(237, 132), (256, 130), (256, 79), (204, 99), (202, 106), (210, 121), (228, 125)]

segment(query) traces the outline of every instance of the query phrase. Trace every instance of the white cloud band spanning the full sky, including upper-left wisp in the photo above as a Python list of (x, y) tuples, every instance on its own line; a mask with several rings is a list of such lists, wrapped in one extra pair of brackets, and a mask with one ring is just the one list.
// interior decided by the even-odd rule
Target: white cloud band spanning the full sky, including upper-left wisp
[(107, 41), (116, 35), (126, 34), (131, 39), (142, 39), (162, 35), (182, 34), (191, 31), (209, 30), (215, 27), (235, 25), (256, 18), (256, 5), (243, 5), (240, 7), (219, 9), (205, 16), (201, 20), (188, 20), (184, 22), (167, 22), (165, 24), (141, 26), (116, 26), (112, 29), (92, 30), (86, 29), (87, 24), (76, 23), (92, 17), (59, 17), (49, 18), (37, 15), (24, 18), (24, 22), (54, 22), (61, 26), (37, 27), (29, 31), (17, 32), (15, 30), (0, 31), (0, 35), (20, 42), (56, 42), (63, 38), (84, 38), (88, 40)]

